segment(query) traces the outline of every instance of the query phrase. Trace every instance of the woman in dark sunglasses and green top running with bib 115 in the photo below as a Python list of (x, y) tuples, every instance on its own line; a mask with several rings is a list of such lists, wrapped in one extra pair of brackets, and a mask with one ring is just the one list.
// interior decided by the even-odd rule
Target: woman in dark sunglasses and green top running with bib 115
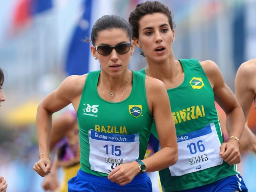
[[(50, 173), (52, 114), (72, 103), (79, 126), (81, 169), (69, 180), (68, 191), (150, 192), (146, 172), (171, 166), (178, 159), (166, 88), (160, 80), (128, 70), (134, 42), (123, 18), (99, 18), (91, 40), (92, 55), (102, 70), (66, 78), (40, 103), (36, 116), (40, 155), (33, 169), (42, 177)], [(153, 117), (162, 149), (142, 160)]]

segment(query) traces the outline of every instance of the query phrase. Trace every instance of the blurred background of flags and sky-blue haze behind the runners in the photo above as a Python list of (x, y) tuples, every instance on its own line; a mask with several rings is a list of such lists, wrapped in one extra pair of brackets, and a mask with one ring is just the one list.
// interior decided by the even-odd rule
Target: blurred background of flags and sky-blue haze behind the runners
[[(256, 58), (256, 1), (159, 1), (174, 14), (176, 59), (213, 60), (234, 92), (238, 67)], [(140, 2), (144, 0), (0, 0), (0, 66), (7, 98), (0, 108), (0, 176), (6, 178), (8, 192), (43, 192), (42, 178), (32, 169), (38, 160), (39, 102), (67, 76), (98, 70), (90, 43), (81, 40), (90, 38), (92, 24), (102, 15), (128, 20)], [(129, 68), (145, 66), (135, 51)], [(254, 132), (255, 118), (250, 115)], [(239, 167), (249, 192), (256, 191), (255, 160), (255, 154), (243, 154)]]

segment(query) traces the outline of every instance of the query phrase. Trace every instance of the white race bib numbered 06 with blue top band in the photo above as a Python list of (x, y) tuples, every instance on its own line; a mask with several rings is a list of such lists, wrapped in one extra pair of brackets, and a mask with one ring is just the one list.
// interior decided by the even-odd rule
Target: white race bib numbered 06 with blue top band
[(178, 161), (170, 166), (172, 176), (204, 170), (222, 164), (220, 140), (214, 123), (188, 134), (177, 136)]

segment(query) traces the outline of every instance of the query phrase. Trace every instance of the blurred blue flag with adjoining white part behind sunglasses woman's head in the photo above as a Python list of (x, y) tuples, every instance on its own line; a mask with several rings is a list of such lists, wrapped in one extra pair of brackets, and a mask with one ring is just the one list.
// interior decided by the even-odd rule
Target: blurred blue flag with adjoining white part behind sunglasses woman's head
[(99, 70), (100, 64), (91, 54), (90, 39), (92, 26), (103, 15), (114, 14), (115, 0), (84, 0), (84, 12), (74, 30), (68, 47), (65, 70), (68, 75), (82, 75), (90, 71)]

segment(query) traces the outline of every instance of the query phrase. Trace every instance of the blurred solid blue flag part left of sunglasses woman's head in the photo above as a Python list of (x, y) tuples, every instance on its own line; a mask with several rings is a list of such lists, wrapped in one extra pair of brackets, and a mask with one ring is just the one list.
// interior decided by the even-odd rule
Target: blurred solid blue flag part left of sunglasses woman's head
[(84, 39), (90, 39), (90, 21), (92, 0), (84, 0), (84, 13), (76, 27), (66, 58), (66, 72), (68, 75), (82, 75), (89, 72), (90, 43)]

